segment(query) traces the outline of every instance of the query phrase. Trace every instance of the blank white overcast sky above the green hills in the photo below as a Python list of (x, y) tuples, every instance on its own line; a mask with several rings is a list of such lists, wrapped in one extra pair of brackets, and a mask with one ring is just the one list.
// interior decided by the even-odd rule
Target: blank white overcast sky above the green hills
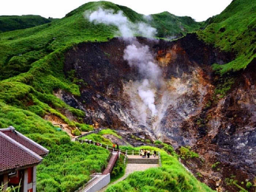
[[(95, 0), (98, 1), (98, 0)], [(144, 14), (168, 11), (177, 16), (191, 16), (204, 21), (220, 14), (232, 0), (109, 0)], [(88, 0), (1, 0), (0, 15), (41, 15), (45, 18), (63, 18)]]

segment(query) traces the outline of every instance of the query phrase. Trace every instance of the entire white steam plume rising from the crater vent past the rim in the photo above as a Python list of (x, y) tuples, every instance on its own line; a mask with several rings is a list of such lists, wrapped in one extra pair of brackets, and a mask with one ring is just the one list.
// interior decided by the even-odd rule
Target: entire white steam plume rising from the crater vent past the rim
[[(152, 38), (157, 34), (157, 30), (150, 25), (140, 22), (132, 23), (122, 11), (114, 13), (113, 10), (103, 10), (98, 8), (96, 11), (87, 11), (84, 17), (95, 24), (104, 23), (106, 25), (114, 25), (118, 27), (120, 35), (130, 44), (124, 50), (124, 60), (128, 61), (130, 67), (138, 68), (142, 78), (138, 82), (138, 95), (143, 101), (143, 106), (138, 106), (138, 114), (146, 122), (147, 109), (150, 109), (152, 116), (156, 115), (155, 92), (161, 85), (161, 69), (154, 63), (154, 57), (150, 53), (147, 45), (141, 45), (135, 39), (129, 39), (135, 35)], [(151, 17), (147, 16), (150, 20)], [(133, 42), (132, 42), (133, 41)]]

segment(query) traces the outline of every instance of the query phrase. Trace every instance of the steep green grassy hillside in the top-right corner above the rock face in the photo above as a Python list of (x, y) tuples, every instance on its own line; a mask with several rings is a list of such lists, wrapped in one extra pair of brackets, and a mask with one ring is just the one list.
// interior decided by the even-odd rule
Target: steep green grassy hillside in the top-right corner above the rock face
[(245, 69), (256, 57), (255, 10), (255, 1), (233, 0), (221, 14), (207, 21), (210, 25), (206, 29), (197, 31), (199, 38), (208, 44), (236, 54), (230, 63), (213, 66), (221, 74)]

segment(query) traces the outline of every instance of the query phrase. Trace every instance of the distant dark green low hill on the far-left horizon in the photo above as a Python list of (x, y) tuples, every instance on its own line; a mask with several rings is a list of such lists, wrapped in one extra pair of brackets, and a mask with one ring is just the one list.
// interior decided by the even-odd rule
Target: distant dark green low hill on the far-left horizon
[(50, 19), (46, 19), (39, 15), (0, 16), (0, 33), (35, 27), (49, 22), (51, 22)]

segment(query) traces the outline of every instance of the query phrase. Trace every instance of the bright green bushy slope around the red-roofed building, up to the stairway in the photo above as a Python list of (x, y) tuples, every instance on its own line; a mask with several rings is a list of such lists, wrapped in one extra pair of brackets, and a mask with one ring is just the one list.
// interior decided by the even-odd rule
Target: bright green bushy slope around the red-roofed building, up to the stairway
[(107, 164), (108, 150), (71, 142), (67, 133), (56, 131), (49, 121), (28, 110), (0, 102), (0, 127), (9, 125), (50, 150), (38, 166), (37, 191), (72, 191), (90, 180), (91, 173), (101, 172)]

